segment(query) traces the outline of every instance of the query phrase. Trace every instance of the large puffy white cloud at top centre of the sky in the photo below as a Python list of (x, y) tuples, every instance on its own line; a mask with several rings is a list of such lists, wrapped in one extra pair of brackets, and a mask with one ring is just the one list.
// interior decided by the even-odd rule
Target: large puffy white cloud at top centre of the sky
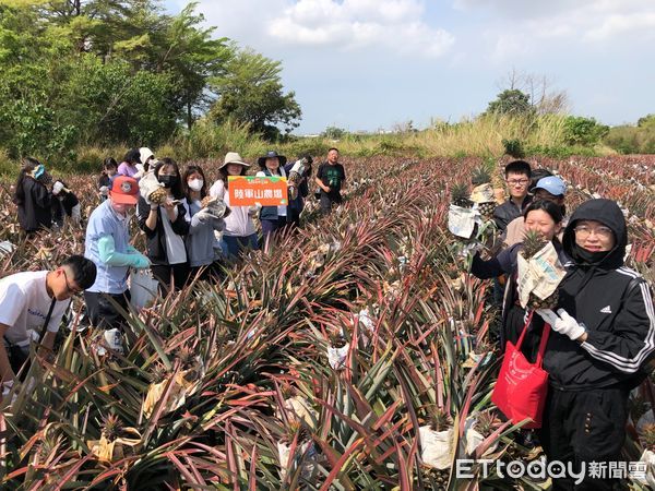
[(407, 56), (442, 56), (454, 37), (426, 24), (422, 14), (418, 0), (299, 0), (272, 22), (267, 33), (293, 46), (348, 51), (382, 47)]

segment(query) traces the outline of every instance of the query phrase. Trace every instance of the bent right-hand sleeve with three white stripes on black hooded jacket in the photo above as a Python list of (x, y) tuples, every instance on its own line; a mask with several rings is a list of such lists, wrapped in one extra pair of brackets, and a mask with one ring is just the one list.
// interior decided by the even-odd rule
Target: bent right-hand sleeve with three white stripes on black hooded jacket
[(647, 283), (640, 280), (628, 292), (611, 332), (588, 331), (582, 347), (620, 372), (636, 372), (655, 350), (655, 313)]

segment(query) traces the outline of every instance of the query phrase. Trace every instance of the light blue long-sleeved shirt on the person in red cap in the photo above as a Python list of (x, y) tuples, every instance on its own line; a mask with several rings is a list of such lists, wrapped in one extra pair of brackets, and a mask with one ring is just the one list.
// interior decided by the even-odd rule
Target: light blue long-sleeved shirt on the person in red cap
[(128, 289), (129, 266), (110, 266), (100, 261), (98, 240), (111, 236), (116, 252), (127, 254), (130, 244), (129, 223), (111, 207), (111, 200), (104, 201), (93, 211), (86, 226), (84, 258), (97, 268), (96, 280), (87, 291), (122, 294)]

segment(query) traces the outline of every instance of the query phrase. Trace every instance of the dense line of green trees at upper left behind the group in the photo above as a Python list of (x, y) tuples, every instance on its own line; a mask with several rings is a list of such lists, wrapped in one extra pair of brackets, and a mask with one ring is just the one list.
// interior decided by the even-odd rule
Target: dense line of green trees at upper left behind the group
[(200, 118), (270, 140), (298, 125), (279, 61), (204, 27), (189, 3), (0, 0), (0, 149), (64, 156), (80, 145), (156, 147)]

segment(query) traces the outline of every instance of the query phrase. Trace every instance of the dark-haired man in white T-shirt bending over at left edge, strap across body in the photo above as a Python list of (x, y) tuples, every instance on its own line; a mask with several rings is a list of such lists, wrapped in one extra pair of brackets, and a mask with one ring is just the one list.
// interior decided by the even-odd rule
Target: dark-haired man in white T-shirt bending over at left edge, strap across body
[[(55, 271), (16, 273), (0, 279), (0, 375), (9, 393), (16, 372), (29, 357), (31, 340), (51, 350), (71, 297), (95, 282), (95, 264), (72, 255)], [(39, 339), (44, 327), (47, 331)], [(11, 352), (11, 359), (10, 355)]]

